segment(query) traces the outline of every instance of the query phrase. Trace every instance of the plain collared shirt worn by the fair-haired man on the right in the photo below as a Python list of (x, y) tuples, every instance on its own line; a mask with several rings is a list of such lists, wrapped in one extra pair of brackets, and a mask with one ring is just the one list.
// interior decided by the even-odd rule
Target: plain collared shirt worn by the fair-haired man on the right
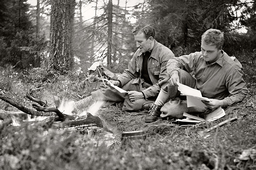
[(224, 106), (239, 102), (248, 94), (243, 71), (224, 51), (212, 64), (204, 60), (202, 52), (170, 59), (167, 63), (168, 74), (171, 76), (179, 69), (189, 73), (195, 71), (195, 88), (204, 97), (222, 100)]

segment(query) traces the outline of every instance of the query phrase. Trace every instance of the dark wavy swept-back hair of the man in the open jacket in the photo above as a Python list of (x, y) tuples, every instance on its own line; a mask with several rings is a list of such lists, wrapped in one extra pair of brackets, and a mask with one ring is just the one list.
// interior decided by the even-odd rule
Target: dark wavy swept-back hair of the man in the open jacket
[(136, 35), (138, 33), (144, 33), (146, 39), (148, 40), (149, 37), (153, 37), (155, 35), (155, 30), (151, 25), (147, 25), (145, 23), (139, 24), (134, 27), (132, 30), (132, 34)]

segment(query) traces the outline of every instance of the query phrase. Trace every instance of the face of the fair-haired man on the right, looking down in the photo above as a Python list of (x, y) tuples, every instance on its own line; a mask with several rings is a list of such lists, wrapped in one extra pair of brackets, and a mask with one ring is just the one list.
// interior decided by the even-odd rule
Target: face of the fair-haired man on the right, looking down
[(209, 64), (217, 61), (221, 49), (216, 48), (216, 45), (207, 45), (204, 41), (201, 42), (201, 51), (204, 57), (204, 60)]

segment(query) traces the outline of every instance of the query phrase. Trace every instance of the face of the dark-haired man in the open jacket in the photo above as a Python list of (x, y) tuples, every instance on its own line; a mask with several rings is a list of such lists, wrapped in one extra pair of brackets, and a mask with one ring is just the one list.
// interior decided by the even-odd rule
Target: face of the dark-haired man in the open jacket
[(149, 37), (147, 40), (144, 33), (138, 33), (134, 35), (134, 40), (136, 41), (137, 48), (140, 48), (140, 51), (142, 53), (145, 53), (146, 51), (150, 50), (152, 41), (151, 37)]

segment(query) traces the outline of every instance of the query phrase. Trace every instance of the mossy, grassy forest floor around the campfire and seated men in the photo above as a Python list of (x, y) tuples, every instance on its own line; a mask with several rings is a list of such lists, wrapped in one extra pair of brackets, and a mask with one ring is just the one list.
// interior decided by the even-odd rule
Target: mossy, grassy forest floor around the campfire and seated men
[[(129, 113), (121, 106), (100, 108), (97, 115), (105, 123), (104, 135), (79, 131), (42, 131), (36, 126), (0, 133), (0, 169), (3, 170), (255, 170), (256, 169), (256, 67), (242, 62), (250, 94), (243, 101), (225, 108), (226, 115), (216, 121), (180, 126), (173, 120), (145, 123), (147, 111)], [(40, 68), (28, 73), (0, 68), (1, 89), (20, 104), (30, 107), (24, 97), (29, 89), (40, 88), (36, 96), (54, 105), (52, 96), (79, 101), (88, 96), (83, 73), (44, 78)], [(0, 100), (0, 108), (17, 111)], [(207, 138), (197, 130), (217, 125)], [(121, 142), (123, 132), (143, 130), (146, 139)]]

